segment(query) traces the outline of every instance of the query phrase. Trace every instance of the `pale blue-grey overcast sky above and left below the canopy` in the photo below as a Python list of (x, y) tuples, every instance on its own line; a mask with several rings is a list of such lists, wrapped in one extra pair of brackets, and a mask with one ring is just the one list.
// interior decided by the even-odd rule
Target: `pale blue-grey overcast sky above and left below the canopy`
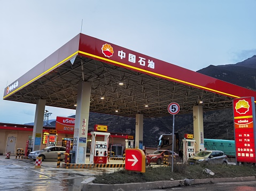
[[(256, 54), (255, 9), (255, 0), (0, 0), (0, 122), (34, 122), (35, 105), (4, 101), (4, 88), (81, 30), (197, 71)], [(49, 119), (75, 114), (45, 109), (52, 113)]]

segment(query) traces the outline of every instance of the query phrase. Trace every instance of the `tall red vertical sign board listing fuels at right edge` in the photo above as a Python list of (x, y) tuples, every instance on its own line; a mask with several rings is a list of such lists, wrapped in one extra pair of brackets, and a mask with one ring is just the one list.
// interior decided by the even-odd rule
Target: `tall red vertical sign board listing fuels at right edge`
[(255, 105), (254, 97), (233, 100), (237, 162), (255, 163)]

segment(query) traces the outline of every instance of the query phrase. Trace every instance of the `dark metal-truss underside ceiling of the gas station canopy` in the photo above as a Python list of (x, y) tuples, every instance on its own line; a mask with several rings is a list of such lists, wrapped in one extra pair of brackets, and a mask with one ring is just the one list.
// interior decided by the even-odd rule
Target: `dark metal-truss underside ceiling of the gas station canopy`
[(203, 101), (204, 111), (232, 107), (231, 97), (83, 56), (76, 56), (73, 65), (66, 62), (6, 100), (36, 104), (42, 98), (48, 106), (75, 109), (80, 81), (91, 84), (90, 112), (126, 117), (141, 113), (144, 118), (152, 118), (170, 115), (167, 107), (172, 102), (180, 105), (179, 114), (192, 113), (199, 100)]

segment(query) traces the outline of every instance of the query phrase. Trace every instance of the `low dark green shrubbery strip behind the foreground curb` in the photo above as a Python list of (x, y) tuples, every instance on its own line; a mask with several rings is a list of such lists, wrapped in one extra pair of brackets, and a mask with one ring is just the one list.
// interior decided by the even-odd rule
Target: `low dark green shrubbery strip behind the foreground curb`
[[(205, 168), (214, 172), (209, 175)], [(251, 165), (221, 165), (221, 164), (203, 164), (188, 165), (187, 163), (174, 163), (172, 166), (154, 166), (147, 167), (145, 173), (127, 171), (119, 169), (113, 173), (103, 173), (95, 176), (95, 184), (126, 184), (133, 182), (151, 182), (164, 180), (183, 180), (183, 179), (201, 179), (201, 178), (229, 178), (229, 177), (247, 177), (255, 176), (256, 168)]]

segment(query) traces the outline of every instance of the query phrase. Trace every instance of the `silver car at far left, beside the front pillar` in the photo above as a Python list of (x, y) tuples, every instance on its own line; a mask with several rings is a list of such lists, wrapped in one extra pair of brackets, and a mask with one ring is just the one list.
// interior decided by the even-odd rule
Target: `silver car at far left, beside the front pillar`
[(52, 160), (52, 159), (58, 159), (58, 153), (61, 153), (60, 160), (65, 159), (65, 155), (63, 153), (66, 153), (66, 147), (63, 146), (49, 146), (45, 147), (43, 150), (33, 151), (28, 154), (28, 159), (36, 160), (36, 157), (42, 157), (43, 160)]

